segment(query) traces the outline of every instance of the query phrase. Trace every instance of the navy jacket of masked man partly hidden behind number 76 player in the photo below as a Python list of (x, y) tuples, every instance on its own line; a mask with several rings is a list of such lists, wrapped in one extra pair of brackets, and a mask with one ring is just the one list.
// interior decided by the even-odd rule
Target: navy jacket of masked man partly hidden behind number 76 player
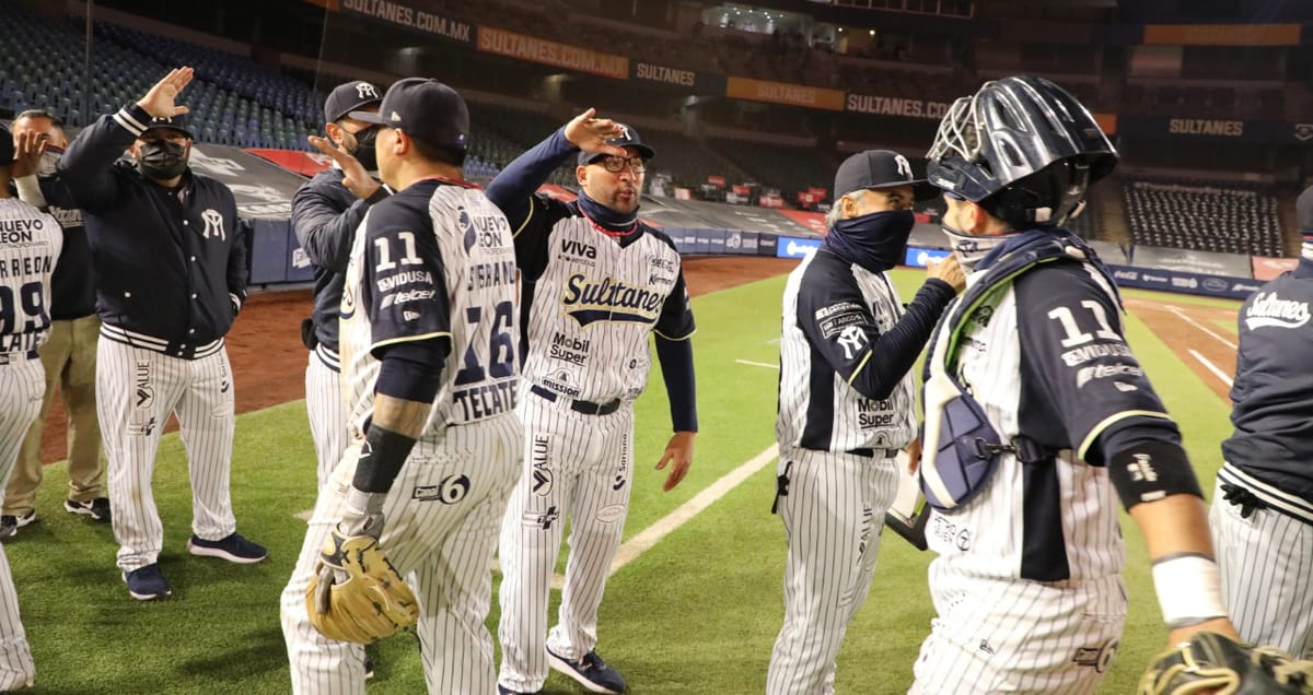
[(356, 228), (369, 206), (387, 197), (387, 188), (381, 186), (379, 193), (361, 201), (341, 185), (341, 169), (326, 169), (291, 198), (291, 231), (315, 265), (315, 337), (334, 355), (337, 354), (343, 273), (351, 260)]

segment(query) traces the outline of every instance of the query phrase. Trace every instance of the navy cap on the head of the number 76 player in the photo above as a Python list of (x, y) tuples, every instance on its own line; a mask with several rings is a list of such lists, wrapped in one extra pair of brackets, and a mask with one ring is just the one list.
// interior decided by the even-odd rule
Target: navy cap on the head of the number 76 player
[(404, 130), (427, 144), (465, 149), (470, 142), (470, 108), (456, 89), (429, 77), (397, 80), (378, 113), (351, 111), (366, 123)]

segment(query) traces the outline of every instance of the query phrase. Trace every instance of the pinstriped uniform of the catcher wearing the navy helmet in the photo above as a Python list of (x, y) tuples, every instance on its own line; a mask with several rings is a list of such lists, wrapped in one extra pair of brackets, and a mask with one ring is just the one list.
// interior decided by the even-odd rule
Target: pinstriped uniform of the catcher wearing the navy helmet
[[(953, 307), (945, 325), (957, 319)], [(1004, 441), (1024, 434), (1048, 455), (1003, 454), (974, 498), (932, 513), (937, 616), (911, 692), (1086, 694), (1102, 681), (1125, 619), (1124, 547), (1108, 471), (1082, 456), (1111, 427), (1167, 420), (1121, 330), (1090, 264), (1032, 269), (968, 319), (958, 378)]]

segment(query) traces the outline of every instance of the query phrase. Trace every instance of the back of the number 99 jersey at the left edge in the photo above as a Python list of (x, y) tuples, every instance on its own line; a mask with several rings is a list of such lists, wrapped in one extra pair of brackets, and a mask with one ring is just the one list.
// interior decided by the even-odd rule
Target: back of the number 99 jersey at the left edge
[(0, 199), (0, 353), (30, 353), (50, 329), (50, 278), (63, 231), (17, 198)]

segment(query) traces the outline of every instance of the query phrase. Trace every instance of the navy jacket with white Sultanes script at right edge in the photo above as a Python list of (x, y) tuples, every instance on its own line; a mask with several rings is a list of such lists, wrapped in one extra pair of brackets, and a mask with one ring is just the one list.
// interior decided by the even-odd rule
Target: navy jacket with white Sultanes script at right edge
[[(1245, 300), (1230, 397), (1236, 433), (1222, 442), (1218, 476), (1313, 522), (1313, 261)], [(1230, 468), (1242, 475), (1236, 476)], [(1245, 479), (1249, 480), (1233, 480)], [(1267, 488), (1275, 488), (1267, 489)], [(1302, 500), (1283, 500), (1283, 494)], [(1289, 509), (1291, 506), (1297, 509)], [(1301, 509), (1299, 509), (1301, 507)]]

